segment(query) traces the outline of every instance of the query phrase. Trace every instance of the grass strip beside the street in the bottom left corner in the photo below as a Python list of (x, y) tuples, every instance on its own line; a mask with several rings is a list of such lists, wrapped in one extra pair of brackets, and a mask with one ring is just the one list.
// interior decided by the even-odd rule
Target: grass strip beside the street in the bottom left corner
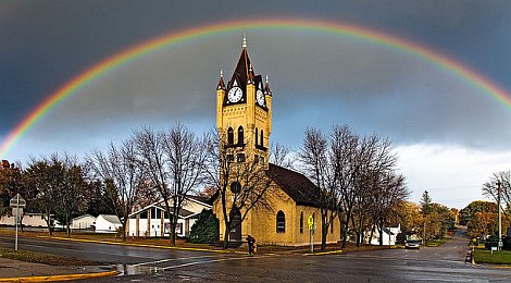
[(14, 259), (20, 261), (27, 262), (37, 262), (50, 266), (94, 266), (96, 262), (90, 262), (87, 260), (80, 260), (72, 257), (57, 256), (45, 253), (36, 253), (29, 250), (18, 249), (14, 251), (13, 249), (8, 249), (0, 247), (0, 258)]

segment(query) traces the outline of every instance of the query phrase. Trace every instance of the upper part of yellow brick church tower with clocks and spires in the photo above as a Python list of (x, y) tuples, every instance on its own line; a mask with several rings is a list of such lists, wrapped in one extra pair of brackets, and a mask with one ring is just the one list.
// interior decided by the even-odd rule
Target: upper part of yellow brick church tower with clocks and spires
[[(216, 87), (216, 127), (228, 147), (246, 153), (229, 157), (235, 162), (259, 162), (267, 167), (272, 134), (272, 91), (253, 71), (244, 35), (241, 54), (227, 84), (221, 71)], [(246, 156), (247, 155), (247, 156)], [(250, 156), (248, 156), (250, 155)]]

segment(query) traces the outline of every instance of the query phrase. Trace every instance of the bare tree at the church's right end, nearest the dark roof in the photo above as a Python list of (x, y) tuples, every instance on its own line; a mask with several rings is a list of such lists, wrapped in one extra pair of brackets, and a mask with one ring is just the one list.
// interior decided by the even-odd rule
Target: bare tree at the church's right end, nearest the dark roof
[(321, 212), (321, 249), (325, 250), (328, 227), (333, 225), (338, 211), (339, 190), (336, 186), (334, 153), (327, 137), (320, 130), (308, 128), (299, 157), (306, 174), (312, 179), (317, 189), (315, 195)]

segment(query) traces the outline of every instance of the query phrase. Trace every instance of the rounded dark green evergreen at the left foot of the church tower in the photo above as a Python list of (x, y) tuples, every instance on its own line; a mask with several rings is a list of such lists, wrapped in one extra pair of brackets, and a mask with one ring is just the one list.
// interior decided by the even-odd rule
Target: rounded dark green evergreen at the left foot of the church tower
[(194, 244), (212, 244), (219, 241), (219, 219), (211, 209), (203, 209), (191, 226), (188, 241)]

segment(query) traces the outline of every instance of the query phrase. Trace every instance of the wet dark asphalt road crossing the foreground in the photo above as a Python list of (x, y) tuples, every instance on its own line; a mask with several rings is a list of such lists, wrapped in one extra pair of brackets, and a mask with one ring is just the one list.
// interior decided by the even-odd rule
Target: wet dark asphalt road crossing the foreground
[(511, 282), (511, 269), (464, 263), (469, 239), (462, 235), (436, 248), (325, 256), (249, 257), (34, 238), (23, 238), (21, 245), (120, 263), (129, 274), (88, 282)]

